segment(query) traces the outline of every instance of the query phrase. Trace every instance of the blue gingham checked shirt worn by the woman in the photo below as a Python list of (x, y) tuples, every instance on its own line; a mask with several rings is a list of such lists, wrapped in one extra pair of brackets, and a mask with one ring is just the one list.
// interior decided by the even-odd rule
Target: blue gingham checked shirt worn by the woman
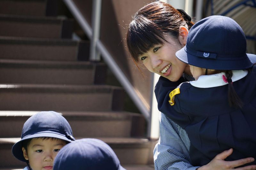
[[(249, 57), (252, 63), (256, 58)], [(192, 76), (183, 74), (187, 81), (195, 80)], [(190, 141), (184, 129), (174, 123), (163, 113), (159, 114), (160, 138), (154, 149), (154, 164), (156, 170), (195, 170), (189, 162)]]

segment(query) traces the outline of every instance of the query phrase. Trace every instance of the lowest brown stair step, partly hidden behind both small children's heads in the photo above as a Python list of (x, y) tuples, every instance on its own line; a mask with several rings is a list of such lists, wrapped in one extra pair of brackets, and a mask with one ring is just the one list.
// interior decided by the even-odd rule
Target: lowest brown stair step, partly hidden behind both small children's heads
[[(84, 137), (82, 137), (84, 138)], [(78, 138), (77, 138), (78, 139)], [(153, 156), (153, 148), (156, 141), (144, 138), (98, 138), (106, 142), (116, 153), (121, 165), (147, 165), (149, 157)], [(5, 159), (0, 159), (1, 168), (22, 168), (26, 165), (12, 155), (11, 148), (20, 138), (0, 138), (0, 155), (5, 155)]]

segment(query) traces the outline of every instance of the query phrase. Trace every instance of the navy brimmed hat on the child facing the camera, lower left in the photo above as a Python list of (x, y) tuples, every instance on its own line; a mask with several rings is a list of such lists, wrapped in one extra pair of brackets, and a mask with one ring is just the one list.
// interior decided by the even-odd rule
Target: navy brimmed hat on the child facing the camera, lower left
[(22, 152), (22, 143), (26, 139), (35, 137), (54, 137), (71, 142), (75, 140), (68, 121), (57, 112), (39, 112), (24, 123), (21, 140), (12, 146), (12, 154), (19, 160), (26, 162)]

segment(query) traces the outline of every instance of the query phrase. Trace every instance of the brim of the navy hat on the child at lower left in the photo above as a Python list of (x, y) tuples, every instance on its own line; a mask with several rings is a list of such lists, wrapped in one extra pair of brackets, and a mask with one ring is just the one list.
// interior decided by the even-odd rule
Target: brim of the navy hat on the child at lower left
[(53, 131), (44, 131), (44, 132), (39, 132), (36, 134), (32, 134), (26, 137), (23, 137), (19, 142), (15, 143), (12, 146), (12, 154), (13, 156), (15, 156), (17, 159), (26, 162), (27, 160), (24, 158), (23, 156), (23, 152), (22, 152), (22, 142), (24, 140), (27, 139), (31, 139), (31, 138), (36, 138), (36, 137), (53, 137), (53, 138), (58, 138), (58, 139), (62, 139), (64, 141), (67, 142), (72, 142), (72, 140), (68, 139), (65, 135), (57, 133), (57, 132), (53, 132)]

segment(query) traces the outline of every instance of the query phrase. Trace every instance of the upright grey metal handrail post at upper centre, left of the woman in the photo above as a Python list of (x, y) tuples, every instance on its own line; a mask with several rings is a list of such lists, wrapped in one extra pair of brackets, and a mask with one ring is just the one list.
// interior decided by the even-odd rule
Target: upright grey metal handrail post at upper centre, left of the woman
[(101, 0), (93, 0), (92, 2), (92, 39), (90, 47), (90, 60), (100, 61), (100, 52), (96, 48), (96, 42), (100, 38)]

